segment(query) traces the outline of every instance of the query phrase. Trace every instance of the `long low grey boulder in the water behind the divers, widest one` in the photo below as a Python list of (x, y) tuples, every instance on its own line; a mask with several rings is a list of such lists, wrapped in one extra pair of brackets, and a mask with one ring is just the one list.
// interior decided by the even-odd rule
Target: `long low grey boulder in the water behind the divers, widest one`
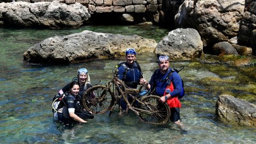
[(84, 30), (82, 33), (47, 38), (30, 47), (23, 58), (27, 63), (73, 63), (121, 57), (128, 47), (134, 47), (138, 53), (154, 52), (156, 45), (154, 39), (138, 35), (124, 36)]

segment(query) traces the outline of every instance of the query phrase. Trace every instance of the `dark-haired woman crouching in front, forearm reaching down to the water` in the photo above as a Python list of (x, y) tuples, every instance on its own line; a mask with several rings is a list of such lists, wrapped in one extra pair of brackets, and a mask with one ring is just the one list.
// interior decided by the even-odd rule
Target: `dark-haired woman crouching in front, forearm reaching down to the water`
[(69, 90), (70, 93), (62, 97), (58, 107), (54, 108), (54, 119), (65, 124), (87, 123), (86, 119), (93, 119), (93, 114), (82, 108), (82, 98), (78, 94), (80, 90), (78, 82), (71, 82)]

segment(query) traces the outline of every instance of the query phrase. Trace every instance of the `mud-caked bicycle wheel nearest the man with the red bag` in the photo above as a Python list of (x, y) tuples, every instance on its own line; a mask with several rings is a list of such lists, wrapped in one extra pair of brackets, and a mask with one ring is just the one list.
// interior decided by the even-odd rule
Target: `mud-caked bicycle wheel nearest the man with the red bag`
[(169, 121), (171, 110), (167, 103), (159, 102), (160, 97), (156, 95), (149, 95), (142, 99), (139, 111), (140, 119), (150, 124), (165, 124)]

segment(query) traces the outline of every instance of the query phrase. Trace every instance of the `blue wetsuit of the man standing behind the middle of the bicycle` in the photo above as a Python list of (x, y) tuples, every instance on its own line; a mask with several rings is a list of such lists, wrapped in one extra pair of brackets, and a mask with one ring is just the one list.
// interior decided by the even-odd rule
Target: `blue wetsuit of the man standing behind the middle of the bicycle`
[[(127, 87), (132, 89), (137, 89), (141, 77), (142, 72), (136, 62), (134, 62), (133, 65), (129, 65), (125, 62), (118, 68), (118, 78), (124, 81)], [(128, 97), (129, 102), (132, 100), (133, 99), (131, 97)], [(126, 109), (126, 102), (123, 99), (121, 99), (120, 105), (122, 109)], [(138, 103), (135, 103), (135, 105), (138, 105)]]

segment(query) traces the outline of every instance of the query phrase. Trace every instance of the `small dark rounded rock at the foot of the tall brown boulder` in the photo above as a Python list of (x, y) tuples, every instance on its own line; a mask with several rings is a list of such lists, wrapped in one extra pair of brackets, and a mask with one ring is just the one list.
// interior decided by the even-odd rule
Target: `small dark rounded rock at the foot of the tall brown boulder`
[(238, 54), (236, 49), (228, 42), (219, 42), (214, 44), (212, 50), (216, 55)]

